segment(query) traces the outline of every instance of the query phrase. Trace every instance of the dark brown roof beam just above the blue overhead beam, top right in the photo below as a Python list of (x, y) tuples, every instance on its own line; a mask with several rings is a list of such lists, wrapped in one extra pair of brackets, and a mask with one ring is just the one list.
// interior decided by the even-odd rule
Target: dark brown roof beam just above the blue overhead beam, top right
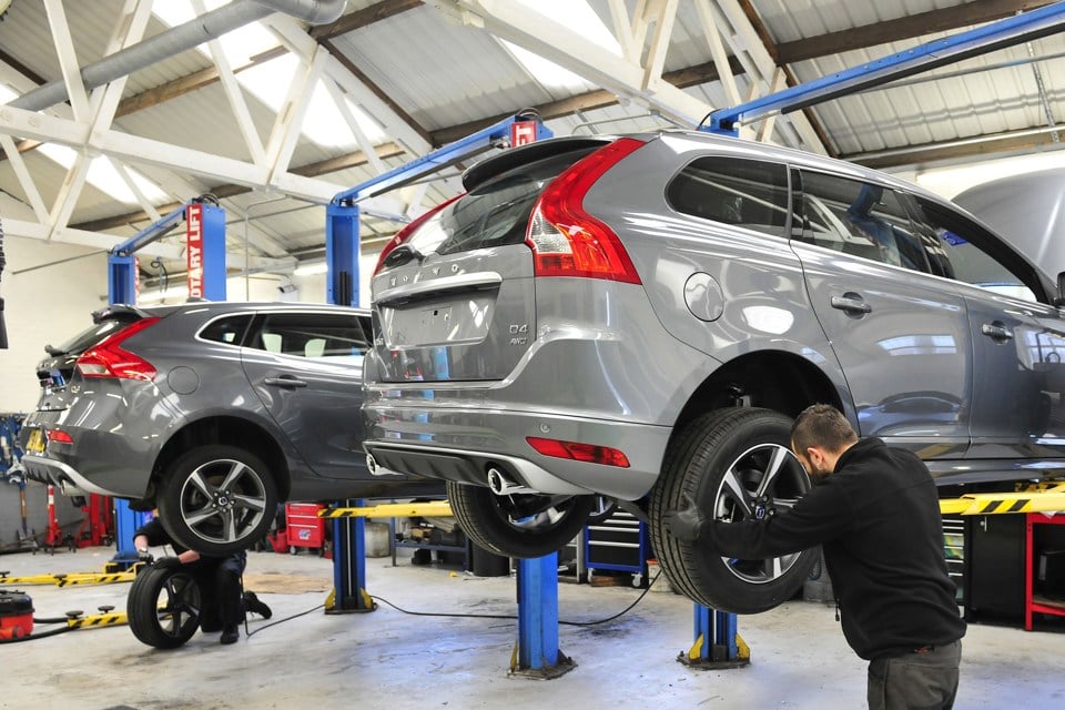
[(791, 64), (855, 49), (924, 37), (935, 32), (946, 32), (962, 27), (1001, 20), (1017, 12), (1042, 8), (1054, 1), (974, 0), (973, 2), (963, 2), (950, 8), (930, 10), (874, 24), (864, 24), (840, 32), (829, 32), (803, 40), (782, 42), (777, 45), (777, 60), (780, 64)]

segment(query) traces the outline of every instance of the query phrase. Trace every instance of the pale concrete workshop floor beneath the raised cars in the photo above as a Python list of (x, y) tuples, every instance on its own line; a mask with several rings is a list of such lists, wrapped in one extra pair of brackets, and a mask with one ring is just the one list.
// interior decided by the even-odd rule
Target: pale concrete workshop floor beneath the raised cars
[[(0, 556), (0, 570), (28, 576), (102, 570), (112, 549), (54, 556)], [(513, 578), (476, 578), (409, 559), (367, 560), (368, 590), (405, 609), (446, 613), (516, 612)], [(332, 564), (310, 555), (252, 552), (246, 579), (261, 580), (273, 619), (233, 646), (196, 633), (184, 647), (160, 651), (124, 626), (78, 630), (0, 647), (0, 708), (170, 710), (175, 708), (863, 708), (865, 663), (843, 641), (833, 610), (792, 601), (740, 618), (749, 667), (690, 670), (674, 659), (691, 641), (691, 604), (648, 594), (621, 618), (594, 627), (564, 626), (560, 648), (578, 666), (555, 680), (507, 676), (517, 622), (415, 617), (381, 602), (366, 615), (307, 611), (332, 587)], [(268, 581), (268, 584), (267, 584)], [(254, 585), (247, 585), (254, 589)], [(7, 585), (12, 588), (11, 585)], [(129, 584), (19, 586), (38, 617), (100, 605), (125, 608)], [(639, 591), (625, 587), (559, 587), (564, 620), (595, 620), (620, 611)], [(40, 631), (47, 627), (38, 626)], [(1061, 628), (1061, 627), (1057, 627)], [(1065, 707), (1065, 636), (971, 626), (957, 708)]]

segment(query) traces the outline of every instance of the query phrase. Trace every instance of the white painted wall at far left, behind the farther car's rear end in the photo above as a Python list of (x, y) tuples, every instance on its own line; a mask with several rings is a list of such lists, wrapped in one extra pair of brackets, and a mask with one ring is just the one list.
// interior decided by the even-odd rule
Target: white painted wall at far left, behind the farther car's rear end
[[(4, 237), (3, 251), (0, 296), (9, 347), (0, 349), (0, 412), (32, 412), (44, 346), (89, 327), (89, 314), (106, 304), (108, 258), (83, 246), (17, 236)], [(55, 263), (71, 257), (81, 258)], [(33, 266), (43, 267), (24, 271)]]

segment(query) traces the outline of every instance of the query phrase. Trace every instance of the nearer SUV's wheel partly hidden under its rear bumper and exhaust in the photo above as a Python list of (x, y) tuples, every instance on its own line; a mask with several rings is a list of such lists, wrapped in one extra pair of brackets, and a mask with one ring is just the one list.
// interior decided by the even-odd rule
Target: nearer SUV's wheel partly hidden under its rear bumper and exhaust
[(453, 481), (447, 484), (447, 499), (475, 545), (518, 558), (558, 551), (577, 537), (595, 507), (595, 496), (497, 496), (484, 486)]

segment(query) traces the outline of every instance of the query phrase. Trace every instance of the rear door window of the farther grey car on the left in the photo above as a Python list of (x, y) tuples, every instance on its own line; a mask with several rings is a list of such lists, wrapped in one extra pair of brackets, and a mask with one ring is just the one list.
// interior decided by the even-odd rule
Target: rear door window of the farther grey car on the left
[(361, 362), (369, 334), (357, 315), (272, 313), (262, 316), (248, 347), (314, 359)]

